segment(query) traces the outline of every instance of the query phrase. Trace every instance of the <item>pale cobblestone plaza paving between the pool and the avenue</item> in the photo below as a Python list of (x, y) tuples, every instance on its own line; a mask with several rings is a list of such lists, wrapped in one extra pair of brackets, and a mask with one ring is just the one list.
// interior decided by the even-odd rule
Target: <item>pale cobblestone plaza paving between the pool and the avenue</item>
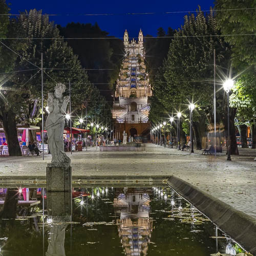
[[(240, 148), (239, 156), (203, 156), (147, 144), (145, 152), (75, 152), (73, 175), (175, 175), (256, 218), (256, 150)], [(45, 176), (51, 157), (0, 157), (1, 176)]]

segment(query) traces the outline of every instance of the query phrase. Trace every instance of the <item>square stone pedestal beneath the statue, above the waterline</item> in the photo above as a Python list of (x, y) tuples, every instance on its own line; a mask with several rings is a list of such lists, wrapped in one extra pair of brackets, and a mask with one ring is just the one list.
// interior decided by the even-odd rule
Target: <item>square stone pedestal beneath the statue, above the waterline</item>
[(46, 189), (52, 191), (70, 191), (72, 182), (72, 169), (67, 164), (47, 164)]

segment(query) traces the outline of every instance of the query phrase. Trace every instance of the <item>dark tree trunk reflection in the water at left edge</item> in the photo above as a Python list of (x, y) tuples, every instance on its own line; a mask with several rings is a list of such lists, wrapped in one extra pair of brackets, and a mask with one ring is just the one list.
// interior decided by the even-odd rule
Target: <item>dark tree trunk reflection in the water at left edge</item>
[(17, 188), (8, 188), (5, 196), (5, 203), (0, 217), (3, 219), (15, 219), (18, 203)]

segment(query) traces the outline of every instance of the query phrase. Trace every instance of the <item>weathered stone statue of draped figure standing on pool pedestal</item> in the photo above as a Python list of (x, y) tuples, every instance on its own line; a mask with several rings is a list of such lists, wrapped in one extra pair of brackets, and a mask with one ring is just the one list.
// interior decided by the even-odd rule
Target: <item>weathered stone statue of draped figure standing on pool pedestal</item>
[(65, 113), (69, 103), (69, 96), (62, 96), (66, 86), (57, 83), (54, 95), (48, 93), (49, 115), (46, 120), (48, 145), (52, 154), (52, 163), (70, 163), (70, 158), (64, 152), (63, 130), (65, 126)]

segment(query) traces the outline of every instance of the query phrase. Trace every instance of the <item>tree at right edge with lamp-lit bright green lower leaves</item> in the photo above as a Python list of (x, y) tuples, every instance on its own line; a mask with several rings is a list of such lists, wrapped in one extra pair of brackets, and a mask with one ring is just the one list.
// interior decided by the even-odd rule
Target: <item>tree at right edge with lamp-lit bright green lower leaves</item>
[[(234, 88), (231, 105), (237, 106), (237, 125), (242, 146), (247, 146), (246, 126), (251, 126), (252, 148), (256, 148), (256, 2), (254, 0), (217, 0), (215, 3), (217, 26), (231, 45), (232, 64), (237, 74), (242, 74)], [(231, 10), (232, 9), (232, 10)], [(254, 34), (254, 35), (253, 35)], [(247, 96), (247, 99), (244, 98)], [(248, 105), (248, 100), (250, 104)], [(249, 110), (249, 111), (247, 111)], [(250, 115), (249, 115), (250, 114)]]

